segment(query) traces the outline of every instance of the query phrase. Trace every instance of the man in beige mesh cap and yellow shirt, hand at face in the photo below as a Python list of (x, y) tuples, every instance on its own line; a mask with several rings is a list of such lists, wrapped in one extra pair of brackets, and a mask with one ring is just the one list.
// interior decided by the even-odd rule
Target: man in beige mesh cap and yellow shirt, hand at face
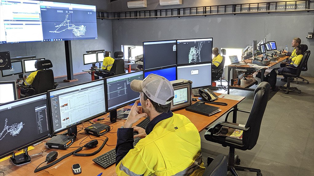
[[(143, 81), (131, 82), (140, 93), (127, 121), (118, 128), (117, 175), (203, 175), (205, 171), (197, 128), (181, 114), (170, 111), (174, 90), (164, 77), (149, 74)], [(138, 102), (142, 106), (138, 106)], [(134, 128), (142, 139), (133, 148), (133, 126), (149, 116), (146, 130)]]

